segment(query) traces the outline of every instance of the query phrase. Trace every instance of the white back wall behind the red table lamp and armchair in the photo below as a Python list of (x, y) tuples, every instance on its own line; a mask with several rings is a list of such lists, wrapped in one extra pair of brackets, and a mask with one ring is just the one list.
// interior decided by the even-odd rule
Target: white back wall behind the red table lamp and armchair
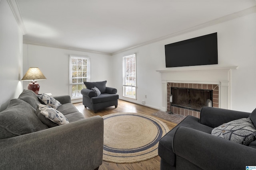
[[(87, 56), (91, 61), (91, 80), (107, 80), (107, 86), (112, 82), (111, 56), (99, 53), (88, 53), (69, 49), (44, 47), (40, 45), (23, 44), (23, 72), (29, 67), (38, 67), (46, 80), (38, 80), (39, 93), (52, 93), (53, 96), (69, 95), (69, 55)], [(23, 82), (24, 88), (29, 81)]]

